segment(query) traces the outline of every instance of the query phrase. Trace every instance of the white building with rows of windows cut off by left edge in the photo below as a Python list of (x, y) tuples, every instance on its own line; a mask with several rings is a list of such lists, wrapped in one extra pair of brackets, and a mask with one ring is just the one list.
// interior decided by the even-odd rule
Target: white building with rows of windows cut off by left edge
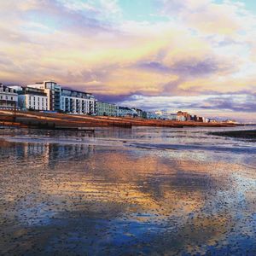
[(0, 109), (15, 109), (18, 107), (18, 94), (15, 89), (0, 84)]

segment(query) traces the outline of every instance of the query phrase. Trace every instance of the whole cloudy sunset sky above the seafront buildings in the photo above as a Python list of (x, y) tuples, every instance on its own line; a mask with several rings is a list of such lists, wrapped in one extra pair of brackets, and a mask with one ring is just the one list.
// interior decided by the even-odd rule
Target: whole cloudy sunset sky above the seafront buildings
[(254, 0), (0, 0), (0, 82), (256, 121)]

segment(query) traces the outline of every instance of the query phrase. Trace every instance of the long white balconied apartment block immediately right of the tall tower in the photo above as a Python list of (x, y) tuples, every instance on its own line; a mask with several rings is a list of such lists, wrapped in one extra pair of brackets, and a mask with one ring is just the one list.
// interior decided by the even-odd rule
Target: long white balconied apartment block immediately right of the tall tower
[(61, 88), (61, 111), (65, 113), (95, 114), (96, 100), (89, 93)]

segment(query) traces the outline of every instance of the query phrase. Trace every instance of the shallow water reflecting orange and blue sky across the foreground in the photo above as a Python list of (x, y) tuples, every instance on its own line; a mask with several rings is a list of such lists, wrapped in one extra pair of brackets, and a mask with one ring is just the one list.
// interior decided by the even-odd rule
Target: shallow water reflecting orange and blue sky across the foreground
[(255, 255), (241, 129), (0, 130), (0, 254)]

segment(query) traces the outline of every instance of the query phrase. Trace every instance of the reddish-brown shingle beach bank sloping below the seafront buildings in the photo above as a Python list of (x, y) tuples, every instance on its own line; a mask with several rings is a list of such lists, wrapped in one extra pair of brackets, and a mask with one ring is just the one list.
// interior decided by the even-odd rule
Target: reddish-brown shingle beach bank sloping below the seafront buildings
[(202, 123), (195, 121), (174, 121), (160, 119), (140, 119), (130, 117), (90, 116), (67, 113), (40, 113), (34, 111), (0, 110), (0, 125), (19, 128), (50, 130), (86, 130), (93, 127), (154, 126), (154, 127), (235, 127), (224, 122)]

